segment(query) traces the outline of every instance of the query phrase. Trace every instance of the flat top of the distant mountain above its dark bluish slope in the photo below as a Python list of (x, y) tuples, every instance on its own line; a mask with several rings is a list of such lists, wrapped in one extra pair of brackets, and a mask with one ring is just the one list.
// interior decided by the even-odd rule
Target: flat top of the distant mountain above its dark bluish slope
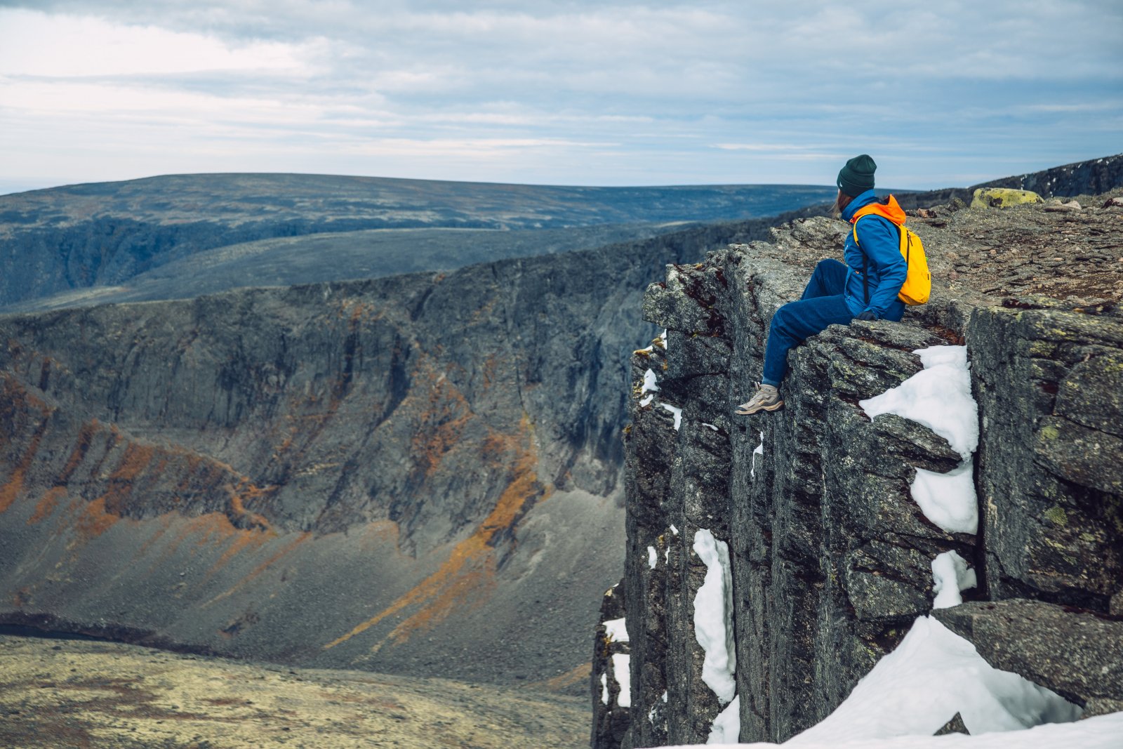
[(721, 221), (778, 213), (822, 201), (831, 192), (812, 185), (582, 188), (327, 174), (173, 174), (0, 195), (0, 237), (108, 217), (163, 225), (362, 219), (384, 227), (476, 228)]

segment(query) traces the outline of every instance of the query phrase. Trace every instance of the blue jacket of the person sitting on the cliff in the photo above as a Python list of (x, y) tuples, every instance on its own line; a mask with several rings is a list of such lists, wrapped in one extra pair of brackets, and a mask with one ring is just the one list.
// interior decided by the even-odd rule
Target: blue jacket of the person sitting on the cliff
[[(842, 220), (849, 222), (855, 211), (874, 202), (877, 195), (867, 190), (842, 210)], [(859, 244), (853, 241), (853, 231), (848, 231), (842, 250), (842, 259), (850, 268), (846, 274), (847, 307), (855, 317), (869, 309), (882, 320), (900, 320), (905, 313), (905, 303), (897, 299), (897, 292), (909, 275), (909, 264), (901, 255), (901, 234), (893, 221), (876, 214), (864, 216), (857, 226)], [(869, 275), (869, 303), (861, 278), (864, 254)]]

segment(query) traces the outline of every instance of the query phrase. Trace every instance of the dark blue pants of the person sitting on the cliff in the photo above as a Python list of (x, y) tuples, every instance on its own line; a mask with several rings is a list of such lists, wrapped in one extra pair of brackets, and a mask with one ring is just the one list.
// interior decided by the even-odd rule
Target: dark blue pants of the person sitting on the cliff
[(847, 267), (834, 259), (819, 261), (807, 287), (797, 302), (776, 310), (765, 345), (766, 385), (778, 386), (787, 372), (787, 353), (805, 338), (827, 330), (831, 325), (850, 325), (853, 314), (846, 303)]

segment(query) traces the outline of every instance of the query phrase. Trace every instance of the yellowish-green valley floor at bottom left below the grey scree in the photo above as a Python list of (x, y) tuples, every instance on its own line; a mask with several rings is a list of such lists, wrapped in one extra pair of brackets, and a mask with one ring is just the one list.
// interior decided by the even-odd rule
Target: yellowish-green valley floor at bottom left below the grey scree
[(588, 698), (0, 636), (0, 746), (588, 745)]

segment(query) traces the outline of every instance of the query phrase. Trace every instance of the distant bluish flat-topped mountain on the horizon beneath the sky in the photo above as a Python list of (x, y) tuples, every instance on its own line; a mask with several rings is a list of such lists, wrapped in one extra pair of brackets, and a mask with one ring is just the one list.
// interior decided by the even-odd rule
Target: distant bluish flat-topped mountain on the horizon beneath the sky
[[(121, 285), (197, 253), (262, 239), (372, 229), (618, 227), (609, 236), (591, 232), (590, 244), (574, 239), (564, 247), (584, 249), (665, 230), (651, 225), (772, 216), (828, 200), (832, 192), (806, 185), (567, 188), (305, 174), (170, 175), (36, 190), (0, 197), (0, 262), (8, 268), (0, 277), (0, 309), (29, 309), (20, 303)], [(465, 235), (459, 257), (446, 252), (408, 270), (451, 270), (511, 256), (506, 239)], [(402, 236), (393, 247), (383, 241), (366, 253), (366, 264), (374, 266), (366, 277), (401, 273), (394, 257), (382, 262), (378, 254), (408, 253), (413, 240)], [(355, 258), (351, 252), (329, 256), (321, 265), (340, 265), (327, 277), (289, 274), (280, 283), (362, 277), (348, 265)], [(252, 273), (237, 281), (263, 285)]]

